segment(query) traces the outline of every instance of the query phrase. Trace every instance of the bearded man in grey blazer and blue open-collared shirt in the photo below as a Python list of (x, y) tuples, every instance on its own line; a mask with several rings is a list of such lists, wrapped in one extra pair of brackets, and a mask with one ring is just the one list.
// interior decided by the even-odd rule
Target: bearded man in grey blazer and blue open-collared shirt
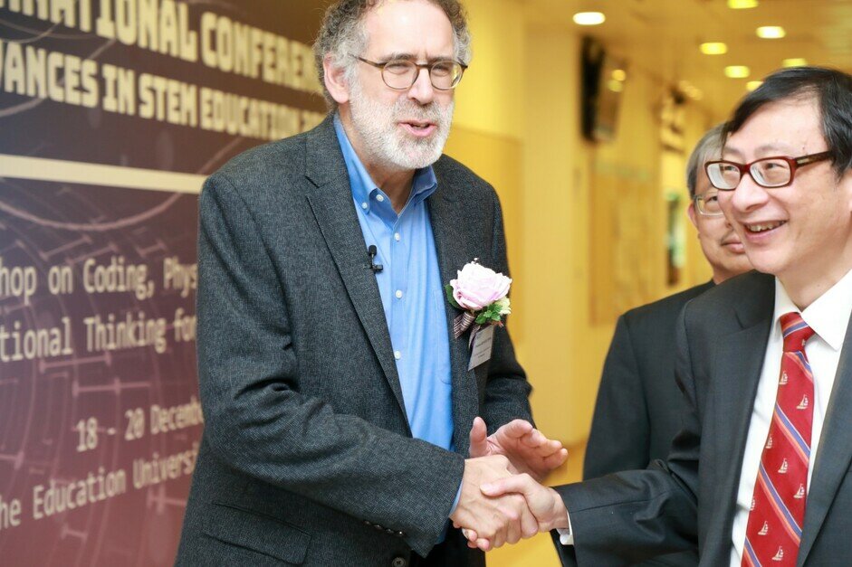
[[(455, 0), (332, 5), (329, 118), (207, 180), (178, 564), (482, 565), (452, 522), (536, 533), (522, 497), (479, 485), (565, 451), (530, 423), (506, 329), (470, 369), (444, 294), (474, 259), (508, 273), (493, 188), (441, 156), (468, 47)], [(465, 459), (476, 416), (492, 435)]]

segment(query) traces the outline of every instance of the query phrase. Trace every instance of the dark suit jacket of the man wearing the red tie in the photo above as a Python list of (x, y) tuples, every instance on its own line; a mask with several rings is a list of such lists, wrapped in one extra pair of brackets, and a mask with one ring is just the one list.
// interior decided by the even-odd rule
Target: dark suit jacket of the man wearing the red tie
[[(677, 326), (684, 421), (667, 461), (558, 487), (576, 546), (563, 562), (624, 565), (697, 544), (730, 561), (742, 454), (774, 307), (774, 279), (749, 272), (689, 302)], [(852, 557), (852, 327), (847, 331), (808, 495), (798, 565)], [(701, 463), (699, 466), (699, 462)]]

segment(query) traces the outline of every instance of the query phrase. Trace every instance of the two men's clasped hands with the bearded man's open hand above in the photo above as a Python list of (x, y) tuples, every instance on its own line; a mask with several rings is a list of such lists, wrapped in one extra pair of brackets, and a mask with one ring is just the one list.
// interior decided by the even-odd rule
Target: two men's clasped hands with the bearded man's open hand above
[(568, 527), (560, 496), (539, 484), (568, 458), (560, 441), (547, 439), (523, 420), (488, 436), (481, 418), (474, 420), (470, 439), (458, 504), (450, 515), (469, 547), (489, 551)]

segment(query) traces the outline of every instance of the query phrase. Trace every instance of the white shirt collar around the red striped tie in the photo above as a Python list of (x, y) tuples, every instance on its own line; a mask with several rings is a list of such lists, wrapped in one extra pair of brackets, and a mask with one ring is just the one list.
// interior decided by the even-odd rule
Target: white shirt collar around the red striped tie
[[(814, 333), (839, 352), (846, 338), (849, 317), (852, 316), (852, 270), (803, 311), (796, 307), (784, 285), (776, 278), (773, 322), (777, 322), (782, 315), (790, 311), (800, 313)], [(780, 331), (780, 324), (774, 328)]]

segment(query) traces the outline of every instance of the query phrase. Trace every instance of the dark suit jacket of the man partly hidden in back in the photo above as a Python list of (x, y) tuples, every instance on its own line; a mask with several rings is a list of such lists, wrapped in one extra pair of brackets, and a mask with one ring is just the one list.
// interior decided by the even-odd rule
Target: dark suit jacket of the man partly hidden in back
[[(675, 383), (675, 324), (700, 286), (637, 307), (618, 317), (600, 378), (598, 402), (583, 465), (584, 478), (646, 468), (665, 458), (680, 430), (684, 396)], [(696, 565), (694, 552), (673, 553), (643, 565)]]

